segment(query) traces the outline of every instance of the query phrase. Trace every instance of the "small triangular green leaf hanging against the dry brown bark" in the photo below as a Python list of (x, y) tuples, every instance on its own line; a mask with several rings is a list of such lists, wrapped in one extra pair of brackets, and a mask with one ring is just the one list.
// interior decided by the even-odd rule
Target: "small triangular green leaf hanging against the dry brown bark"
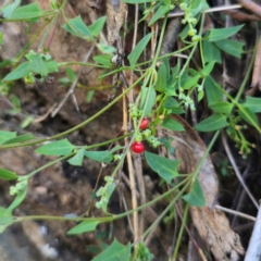
[(189, 194), (184, 195), (183, 199), (195, 207), (206, 206), (204, 192), (202, 190), (202, 187), (201, 187), (198, 178), (195, 179), (192, 189), (189, 191)]

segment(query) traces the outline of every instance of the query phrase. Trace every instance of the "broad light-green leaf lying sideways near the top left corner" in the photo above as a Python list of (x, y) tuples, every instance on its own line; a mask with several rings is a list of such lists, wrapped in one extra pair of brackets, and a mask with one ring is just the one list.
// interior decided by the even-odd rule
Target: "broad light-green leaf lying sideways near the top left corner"
[(14, 10), (12, 20), (32, 20), (40, 17), (44, 14), (37, 2), (26, 4)]

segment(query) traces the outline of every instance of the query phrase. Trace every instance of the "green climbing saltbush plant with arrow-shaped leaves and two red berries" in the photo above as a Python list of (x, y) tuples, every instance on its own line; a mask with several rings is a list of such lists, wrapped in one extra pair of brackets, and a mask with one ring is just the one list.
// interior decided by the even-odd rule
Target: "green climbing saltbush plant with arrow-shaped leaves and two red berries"
[[(245, 100), (241, 100), (240, 94), (243, 92), (246, 80), (243, 83), (238, 95), (232, 97), (211, 76), (211, 72), (215, 66), (222, 63), (223, 52), (235, 58), (240, 58), (244, 54), (244, 42), (228, 39), (231, 36), (239, 33), (240, 29), (244, 28), (244, 24), (228, 28), (211, 28), (203, 32), (204, 11), (209, 9), (207, 1), (124, 0), (123, 2), (140, 4), (140, 10), (142, 10), (140, 21), (148, 21), (148, 26), (150, 27), (161, 21), (161, 30), (156, 51), (153, 55), (151, 55), (152, 58), (147, 61), (142, 61), (141, 54), (145, 49), (148, 49), (149, 44), (152, 41), (154, 37), (153, 32), (146, 34), (137, 42), (136, 47), (130, 50), (130, 53), (127, 55), (127, 63), (123, 65), (121, 61), (119, 61), (121, 58), (119, 57), (116, 48), (107, 45), (99, 38), (107, 22), (105, 16), (99, 17), (95, 23), (89, 25), (84, 23), (80, 15), (69, 18), (64, 12), (67, 3), (65, 0), (50, 1), (49, 10), (41, 10), (37, 2), (21, 5), (22, 1), (17, 0), (12, 3), (8, 1), (5, 5), (0, 8), (2, 14), (0, 18), (1, 23), (26, 22), (30, 24), (30, 26), (34, 26), (34, 24), (40, 20), (48, 18), (48, 23), (45, 23), (45, 28), (42, 28), (42, 40), (38, 50), (30, 49), (37, 36), (32, 42), (26, 45), (16, 57), (1, 62), (0, 67), (10, 69), (10, 73), (0, 75), (0, 92), (3, 96), (12, 92), (11, 86), (15, 80), (22, 79), (25, 84), (33, 84), (36, 80), (44, 82), (48, 79), (50, 75), (55, 75), (61, 67), (66, 67), (66, 75), (60, 78), (60, 83), (62, 85), (71, 84), (76, 79), (75, 72), (70, 67), (71, 64), (102, 69), (100, 79), (126, 71), (133, 71), (139, 75), (135, 83), (130, 86), (125, 86), (123, 92), (115, 97), (101, 111), (64, 133), (48, 138), (39, 138), (32, 134), (18, 135), (15, 132), (0, 130), (1, 150), (37, 145), (38, 148), (35, 150), (35, 153), (57, 157), (55, 160), (23, 176), (21, 176), (20, 173), (0, 169), (1, 178), (15, 182), (15, 185), (10, 187), (10, 195), (15, 197), (13, 202), (8, 208), (0, 207), (1, 232), (16, 222), (30, 219), (30, 216), (13, 215), (15, 208), (17, 208), (26, 197), (29, 178), (39, 171), (61, 161), (67, 161), (71, 165), (80, 166), (85, 158), (98, 161), (101, 164), (116, 162), (116, 165), (111, 175), (104, 177), (104, 185), (99, 186), (95, 191), (95, 208), (101, 209), (103, 216), (60, 216), (59, 220), (78, 222), (77, 225), (66, 232), (67, 235), (94, 232), (101, 223), (125, 217), (135, 211), (146, 209), (159, 200), (166, 199), (172, 194), (176, 196), (174, 201), (182, 198), (191, 206), (204, 206), (204, 195), (197, 178), (198, 171), (191, 175), (179, 174), (178, 159), (171, 160), (164, 158), (156, 152), (152, 153), (145, 150), (145, 147), (141, 146), (142, 141), (147, 140), (149, 146), (154, 150), (163, 146), (171, 153), (174, 153), (175, 148), (172, 148), (171, 140), (159, 139), (157, 137), (157, 128), (161, 126), (173, 132), (184, 132), (184, 126), (173, 117), (170, 117), (170, 115), (179, 115), (185, 113), (186, 110), (197, 111), (197, 103), (203, 99), (207, 101), (207, 105), (212, 113), (194, 126), (195, 130), (219, 132), (220, 129), (224, 129), (231, 138), (235, 140), (239, 153), (244, 158), (247, 158), (251, 152), (251, 148), (254, 147), (254, 145), (246, 140), (244, 129), (251, 125), (259, 133), (261, 132), (256, 116), (256, 113), (261, 112), (261, 99), (246, 97)], [(183, 47), (161, 55), (169, 14), (177, 7), (184, 12), (182, 32), (179, 33), (179, 40), (183, 42)], [(46, 39), (58, 18), (63, 18), (64, 21), (64, 24), (59, 29), (66, 30), (74, 37), (96, 45), (99, 54), (92, 57), (92, 62), (58, 62), (53, 60), (50, 50), (46, 47)], [(4, 45), (2, 33), (0, 34), (0, 46), (1, 45)], [(192, 66), (196, 52), (200, 54), (200, 64), (197, 64), (197, 69)], [(182, 62), (178, 55), (184, 53), (186, 53), (186, 59)], [(170, 59), (175, 55), (177, 57), (177, 62), (173, 66), (170, 63)], [(250, 70), (251, 66), (249, 66), (246, 79), (249, 76)], [(66, 139), (67, 134), (79, 129), (100, 116), (109, 108), (113, 107), (115, 102), (128, 95), (137, 85), (140, 86), (140, 91), (137, 98), (129, 102), (127, 109), (132, 123), (129, 132), (115, 139), (88, 146), (76, 146)], [(89, 97), (89, 101), (90, 100), (91, 97)], [(147, 121), (146, 126), (142, 127), (145, 120)], [(24, 127), (26, 127), (26, 124)], [(216, 138), (216, 136), (214, 137)], [(128, 142), (124, 146), (115, 146), (108, 150), (99, 149), (101, 146), (113, 144), (116, 140), (124, 141), (126, 138)], [(135, 146), (132, 147), (132, 145)], [(208, 149), (210, 149), (210, 147)], [(117, 186), (115, 183), (116, 175), (130, 150), (142, 153), (151, 170), (159, 174), (161, 181), (167, 184), (170, 189), (156, 199), (139, 206), (137, 209), (132, 209), (121, 214), (113, 214), (110, 213), (108, 203)], [(206, 159), (206, 157), (207, 153), (203, 159)], [(178, 178), (181, 182), (176, 184), (173, 182), (174, 178)], [(173, 204), (173, 202), (171, 202), (170, 206), (171, 204)], [(169, 209), (165, 210), (165, 214), (167, 210)], [(41, 216), (41, 219), (45, 220), (45, 216)], [(53, 216), (53, 220), (55, 219), (57, 217)], [(163, 216), (160, 219), (163, 219)], [(134, 243), (128, 243), (124, 246), (114, 239), (113, 243), (94, 260), (152, 260), (153, 256), (144, 244), (144, 239), (150, 229), (151, 227), (146, 231), (137, 246), (135, 246)], [(176, 247), (178, 248), (178, 246), (177, 244)]]

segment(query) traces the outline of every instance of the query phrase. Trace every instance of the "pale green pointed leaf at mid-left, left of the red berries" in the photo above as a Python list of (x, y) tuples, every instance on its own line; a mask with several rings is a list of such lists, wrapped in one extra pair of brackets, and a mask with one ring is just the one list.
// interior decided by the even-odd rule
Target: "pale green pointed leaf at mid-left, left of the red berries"
[(66, 156), (72, 152), (74, 146), (65, 138), (51, 144), (44, 145), (35, 151), (39, 154)]

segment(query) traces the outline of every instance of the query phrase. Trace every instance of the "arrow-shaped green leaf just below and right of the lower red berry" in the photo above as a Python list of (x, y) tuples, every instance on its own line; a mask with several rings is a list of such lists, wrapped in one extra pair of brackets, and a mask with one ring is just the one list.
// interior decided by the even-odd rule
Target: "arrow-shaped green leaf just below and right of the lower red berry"
[(169, 160), (148, 151), (145, 151), (145, 158), (149, 166), (169, 184), (171, 184), (174, 177), (178, 176), (177, 165), (179, 164), (179, 160)]

